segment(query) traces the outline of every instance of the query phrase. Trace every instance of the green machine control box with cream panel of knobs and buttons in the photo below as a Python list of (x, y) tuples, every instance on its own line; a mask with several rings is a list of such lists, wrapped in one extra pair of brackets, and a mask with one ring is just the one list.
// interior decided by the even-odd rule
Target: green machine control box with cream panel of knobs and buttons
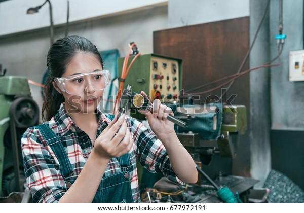
[[(127, 63), (129, 67), (135, 56), (130, 56)], [(125, 58), (118, 59), (118, 74), (122, 76)], [(151, 101), (160, 99), (164, 104), (179, 103), (182, 89), (182, 60), (158, 54), (145, 54), (138, 56), (125, 79), (124, 88), (132, 86), (132, 92), (144, 91)], [(135, 118), (143, 116), (131, 111)]]

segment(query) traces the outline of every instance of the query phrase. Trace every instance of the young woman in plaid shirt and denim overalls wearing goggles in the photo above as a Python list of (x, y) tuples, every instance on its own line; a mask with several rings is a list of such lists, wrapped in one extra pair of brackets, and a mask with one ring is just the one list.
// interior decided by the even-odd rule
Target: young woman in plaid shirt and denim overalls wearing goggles
[(47, 66), (47, 121), (27, 129), (21, 140), (33, 202), (140, 202), (136, 161), (179, 184), (197, 181), (195, 164), (166, 119), (170, 108), (159, 100), (153, 113), (142, 112), (151, 129), (100, 111), (110, 76), (89, 40), (57, 40)]

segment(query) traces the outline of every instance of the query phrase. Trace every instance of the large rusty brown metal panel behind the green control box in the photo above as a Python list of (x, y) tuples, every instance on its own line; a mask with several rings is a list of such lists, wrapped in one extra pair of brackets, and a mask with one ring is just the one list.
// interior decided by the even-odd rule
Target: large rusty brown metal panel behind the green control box
[[(182, 85), (184, 91), (187, 91), (237, 72), (249, 49), (249, 28), (249, 17), (242, 17), (155, 31), (154, 53), (183, 60)], [(246, 69), (249, 69), (248, 61), (243, 70)], [(231, 95), (237, 95), (231, 104), (245, 105), (248, 118), (250, 118), (249, 80), (249, 75), (240, 77), (226, 96), (223, 96), (223, 101), (230, 101)], [(219, 84), (193, 92), (206, 91)], [(221, 94), (221, 89), (218, 89), (200, 95), (199, 98), (195, 97), (198, 100), (195, 100), (194, 104), (209, 103)], [(181, 102), (185, 103), (185, 101), (186, 98), (183, 100), (181, 97)], [(249, 121), (247, 121), (248, 129), (245, 134), (240, 135), (236, 148), (237, 156), (232, 165), (235, 175), (250, 176)], [(214, 168), (210, 169), (214, 171)]]

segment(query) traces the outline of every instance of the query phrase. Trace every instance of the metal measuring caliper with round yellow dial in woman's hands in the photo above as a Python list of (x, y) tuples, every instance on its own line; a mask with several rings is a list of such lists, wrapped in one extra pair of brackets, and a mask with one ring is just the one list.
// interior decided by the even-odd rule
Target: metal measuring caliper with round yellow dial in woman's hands
[[(118, 116), (121, 116), (123, 113), (126, 113), (126, 111), (130, 107), (133, 107), (137, 110), (142, 109), (153, 112), (153, 105), (151, 104), (151, 102), (146, 99), (142, 94), (131, 92), (130, 85), (128, 85), (127, 89), (124, 89), (119, 106), (120, 107)], [(172, 115), (168, 115), (167, 119), (183, 128), (187, 126), (186, 122), (179, 120), (178, 118), (175, 118)]]

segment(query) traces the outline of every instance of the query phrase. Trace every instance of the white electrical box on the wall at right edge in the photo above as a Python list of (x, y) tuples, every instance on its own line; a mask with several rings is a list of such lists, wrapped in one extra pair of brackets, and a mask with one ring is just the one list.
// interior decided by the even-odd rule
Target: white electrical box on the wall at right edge
[(304, 50), (289, 52), (289, 81), (304, 81)]

